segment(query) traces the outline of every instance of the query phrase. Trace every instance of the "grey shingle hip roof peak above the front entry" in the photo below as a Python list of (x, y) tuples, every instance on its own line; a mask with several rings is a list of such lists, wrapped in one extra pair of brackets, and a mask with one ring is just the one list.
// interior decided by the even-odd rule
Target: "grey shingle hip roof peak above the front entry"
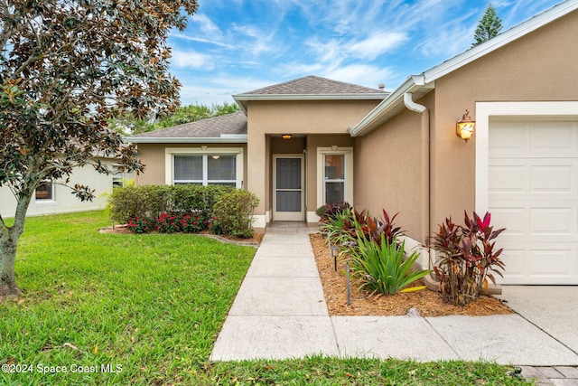
[(380, 100), (385, 99), (387, 95), (388, 93), (382, 89), (371, 89), (310, 75), (233, 95), (233, 99), (247, 111), (249, 100)]

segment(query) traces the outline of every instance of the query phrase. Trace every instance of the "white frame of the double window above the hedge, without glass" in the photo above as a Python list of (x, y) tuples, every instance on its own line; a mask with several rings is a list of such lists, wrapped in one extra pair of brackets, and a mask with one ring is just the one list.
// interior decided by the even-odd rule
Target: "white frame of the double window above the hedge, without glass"
[[(175, 180), (174, 179), (174, 157), (182, 156), (202, 156), (202, 179), (201, 180)], [(212, 155), (235, 155), (235, 180), (209, 180), (209, 159)], [(243, 148), (242, 147), (167, 147), (165, 148), (165, 183), (174, 184), (232, 184), (241, 189), (243, 187)]]

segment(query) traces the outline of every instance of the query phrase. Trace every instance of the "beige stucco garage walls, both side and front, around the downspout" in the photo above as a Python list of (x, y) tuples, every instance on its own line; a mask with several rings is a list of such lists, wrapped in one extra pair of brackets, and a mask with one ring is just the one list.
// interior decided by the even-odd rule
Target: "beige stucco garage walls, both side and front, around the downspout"
[[(511, 42), (435, 81), (417, 103), (430, 111), (429, 227), (445, 217), (462, 221), (475, 207), (475, 133), (467, 143), (455, 135), (466, 108), (476, 118), (480, 101), (578, 99), (578, 12)], [(408, 110), (356, 138), (356, 203), (371, 212), (400, 212), (397, 222), (417, 240), (420, 231), (420, 118)], [(382, 155), (387, 162), (377, 162)], [(377, 176), (378, 178), (375, 178)]]

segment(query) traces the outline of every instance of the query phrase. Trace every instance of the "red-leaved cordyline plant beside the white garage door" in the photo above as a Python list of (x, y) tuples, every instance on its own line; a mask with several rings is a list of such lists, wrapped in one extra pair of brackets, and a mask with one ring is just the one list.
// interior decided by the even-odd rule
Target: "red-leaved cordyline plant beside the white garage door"
[(494, 273), (503, 277), (499, 271), (504, 269), (499, 259), (502, 249), (494, 250), (494, 246), (505, 229), (494, 231), (490, 219), (489, 212), (482, 220), (476, 212), (470, 218), (464, 211), (464, 226), (446, 218), (440, 230), (428, 238), (427, 246), (435, 249), (438, 257), (433, 271), (447, 303), (465, 306), (480, 296), (482, 288), (488, 288), (488, 280), (496, 284)]

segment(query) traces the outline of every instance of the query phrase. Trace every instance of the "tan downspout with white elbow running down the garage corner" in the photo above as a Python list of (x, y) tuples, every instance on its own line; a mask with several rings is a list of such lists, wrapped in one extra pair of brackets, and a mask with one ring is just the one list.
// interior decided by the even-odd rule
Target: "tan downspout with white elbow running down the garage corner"
[(421, 155), (422, 155), (422, 235), (424, 238), (430, 234), (430, 112), (425, 106), (415, 103), (411, 92), (404, 94), (406, 108), (421, 114)]

